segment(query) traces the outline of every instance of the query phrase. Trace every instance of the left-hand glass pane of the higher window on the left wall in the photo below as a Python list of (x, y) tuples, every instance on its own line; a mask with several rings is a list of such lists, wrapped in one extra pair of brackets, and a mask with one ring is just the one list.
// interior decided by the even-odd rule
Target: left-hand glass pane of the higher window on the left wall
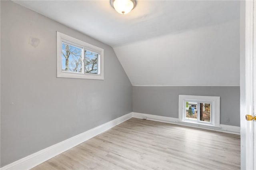
[(62, 42), (62, 71), (82, 73), (82, 48)]

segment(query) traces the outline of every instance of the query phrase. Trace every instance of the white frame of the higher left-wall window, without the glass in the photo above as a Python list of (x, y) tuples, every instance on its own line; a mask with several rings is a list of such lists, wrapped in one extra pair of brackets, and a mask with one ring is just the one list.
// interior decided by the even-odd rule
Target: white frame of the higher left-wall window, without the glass
[[(82, 55), (84, 55), (84, 49), (99, 53), (98, 74), (84, 73), (84, 65), (82, 68), (82, 73), (62, 71), (62, 42), (81, 47), (83, 49)], [(96, 47), (95, 45), (92, 45), (90, 43), (83, 42), (66, 34), (57, 32), (57, 77), (104, 80), (104, 49)]]

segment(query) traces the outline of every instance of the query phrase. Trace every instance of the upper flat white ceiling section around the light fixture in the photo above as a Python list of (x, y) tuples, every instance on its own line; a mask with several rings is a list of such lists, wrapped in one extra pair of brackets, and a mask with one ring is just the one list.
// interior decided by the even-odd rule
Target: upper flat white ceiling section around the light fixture
[(112, 47), (221, 24), (239, 15), (239, 2), (137, 0), (128, 14), (117, 13), (109, 0), (14, 1)]

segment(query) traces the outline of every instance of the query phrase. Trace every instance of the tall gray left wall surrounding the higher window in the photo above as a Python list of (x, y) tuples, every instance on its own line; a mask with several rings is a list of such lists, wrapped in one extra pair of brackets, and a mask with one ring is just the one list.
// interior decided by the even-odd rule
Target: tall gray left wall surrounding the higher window
[[(132, 112), (132, 85), (112, 47), (0, 3), (1, 166)], [(56, 78), (56, 31), (104, 49), (104, 81)]]

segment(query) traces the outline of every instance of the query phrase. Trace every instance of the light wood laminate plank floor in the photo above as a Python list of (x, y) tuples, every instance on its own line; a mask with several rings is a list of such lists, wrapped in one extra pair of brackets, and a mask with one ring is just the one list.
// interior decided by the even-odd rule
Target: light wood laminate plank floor
[(33, 170), (235, 170), (240, 136), (132, 118)]

